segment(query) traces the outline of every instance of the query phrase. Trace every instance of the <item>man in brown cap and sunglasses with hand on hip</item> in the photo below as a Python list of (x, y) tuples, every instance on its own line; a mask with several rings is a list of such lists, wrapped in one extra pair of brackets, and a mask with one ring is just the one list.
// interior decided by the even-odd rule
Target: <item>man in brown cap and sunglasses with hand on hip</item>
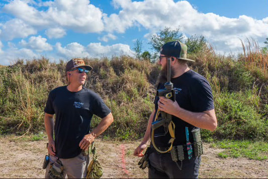
[[(65, 69), (68, 85), (49, 93), (44, 109), (50, 160), (46, 167), (46, 178), (57, 176), (55, 171), (63, 178), (66, 174), (68, 178), (85, 177), (89, 160), (85, 154), (88, 146), (114, 121), (111, 110), (102, 98), (82, 86), (86, 74), (91, 70), (92, 67), (85, 65), (82, 59), (71, 59)], [(102, 121), (90, 133), (94, 114), (101, 117)], [(53, 163), (56, 164), (53, 166)]]

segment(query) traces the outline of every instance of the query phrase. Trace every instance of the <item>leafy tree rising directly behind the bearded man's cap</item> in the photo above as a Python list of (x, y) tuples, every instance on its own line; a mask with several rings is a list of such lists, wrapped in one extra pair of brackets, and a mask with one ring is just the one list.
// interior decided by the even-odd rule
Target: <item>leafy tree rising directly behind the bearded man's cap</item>
[(152, 35), (149, 44), (152, 45), (152, 49), (159, 52), (161, 46), (166, 42), (182, 40), (183, 34), (180, 33), (180, 28), (172, 30), (170, 27), (165, 27), (163, 30), (160, 30), (158, 34)]

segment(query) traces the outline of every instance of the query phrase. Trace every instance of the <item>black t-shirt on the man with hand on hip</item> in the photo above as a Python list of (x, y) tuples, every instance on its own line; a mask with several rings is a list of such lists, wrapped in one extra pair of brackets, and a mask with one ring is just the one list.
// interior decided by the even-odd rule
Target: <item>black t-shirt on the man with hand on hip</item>
[(93, 114), (103, 118), (111, 110), (93, 91), (82, 88), (70, 92), (67, 86), (53, 89), (44, 111), (55, 114), (54, 137), (56, 156), (72, 158), (81, 153), (79, 142), (88, 134)]

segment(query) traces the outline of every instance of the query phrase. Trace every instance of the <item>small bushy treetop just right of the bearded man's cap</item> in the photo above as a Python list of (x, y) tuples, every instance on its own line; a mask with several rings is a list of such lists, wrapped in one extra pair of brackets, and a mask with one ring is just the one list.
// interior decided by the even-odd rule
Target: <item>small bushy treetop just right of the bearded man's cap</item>
[(186, 40), (185, 44), (187, 45), (188, 53), (198, 53), (204, 51), (207, 48), (207, 40), (203, 35), (192, 35)]

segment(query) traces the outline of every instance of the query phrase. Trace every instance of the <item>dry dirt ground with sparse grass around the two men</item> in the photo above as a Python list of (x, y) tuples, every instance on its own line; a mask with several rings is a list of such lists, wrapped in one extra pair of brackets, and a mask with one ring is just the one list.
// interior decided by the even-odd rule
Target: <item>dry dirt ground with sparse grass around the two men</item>
[[(138, 141), (96, 140), (103, 178), (147, 178), (148, 169), (138, 167), (133, 151)], [(219, 158), (221, 149), (204, 145), (200, 178), (268, 178), (268, 160)], [(15, 136), (0, 136), (0, 178), (44, 178), (42, 169), (46, 140), (29, 141)]]

